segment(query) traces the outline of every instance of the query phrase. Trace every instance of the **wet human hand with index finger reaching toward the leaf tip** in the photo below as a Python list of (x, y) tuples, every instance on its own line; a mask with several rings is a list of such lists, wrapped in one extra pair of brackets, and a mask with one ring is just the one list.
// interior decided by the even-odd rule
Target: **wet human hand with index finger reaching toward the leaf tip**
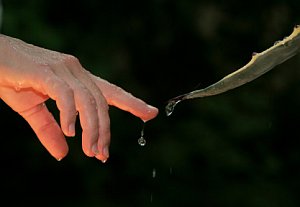
[[(57, 160), (68, 153), (65, 136), (75, 136), (77, 114), (83, 152), (102, 161), (109, 157), (108, 105), (143, 121), (158, 114), (157, 108), (89, 73), (74, 56), (5, 35), (0, 35), (0, 54), (0, 98), (29, 123)], [(45, 105), (49, 98), (60, 111), (60, 124)]]

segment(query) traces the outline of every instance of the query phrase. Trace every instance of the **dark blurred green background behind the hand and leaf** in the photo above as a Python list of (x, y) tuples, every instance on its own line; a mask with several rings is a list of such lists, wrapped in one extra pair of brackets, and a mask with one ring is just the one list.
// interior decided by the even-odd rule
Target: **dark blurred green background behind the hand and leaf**
[[(160, 109), (146, 124), (110, 109), (111, 157), (57, 162), (1, 102), (1, 200), (39, 206), (300, 205), (299, 55), (240, 88), (179, 104), (300, 24), (298, 0), (3, 0), (2, 33), (75, 55)], [(55, 116), (54, 103), (49, 103)], [(11, 199), (14, 196), (15, 199)]]

